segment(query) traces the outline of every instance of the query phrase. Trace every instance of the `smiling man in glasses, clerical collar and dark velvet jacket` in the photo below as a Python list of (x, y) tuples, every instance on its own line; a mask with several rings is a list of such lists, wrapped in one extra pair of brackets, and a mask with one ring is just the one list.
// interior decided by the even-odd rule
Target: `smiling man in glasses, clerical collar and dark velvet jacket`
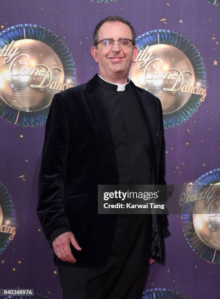
[(160, 100), (128, 78), (133, 26), (100, 21), (99, 73), (55, 94), (45, 128), (37, 214), (64, 299), (140, 299), (149, 259), (164, 262), (166, 215), (97, 214), (98, 184), (165, 184)]

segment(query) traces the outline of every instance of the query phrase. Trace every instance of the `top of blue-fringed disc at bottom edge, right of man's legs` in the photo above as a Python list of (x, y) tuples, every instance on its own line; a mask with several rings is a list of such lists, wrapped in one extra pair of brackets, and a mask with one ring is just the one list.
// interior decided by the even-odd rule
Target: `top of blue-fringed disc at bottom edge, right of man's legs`
[(142, 299), (186, 299), (186, 297), (174, 290), (154, 288), (144, 291)]

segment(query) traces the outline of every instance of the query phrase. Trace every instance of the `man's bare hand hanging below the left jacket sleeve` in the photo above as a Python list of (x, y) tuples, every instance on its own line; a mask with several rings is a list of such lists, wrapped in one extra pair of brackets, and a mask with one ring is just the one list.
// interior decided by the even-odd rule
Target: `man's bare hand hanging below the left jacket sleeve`
[(71, 252), (70, 243), (75, 249), (82, 250), (71, 232), (66, 232), (56, 237), (53, 241), (53, 247), (55, 255), (59, 259), (74, 263), (76, 262), (76, 259)]

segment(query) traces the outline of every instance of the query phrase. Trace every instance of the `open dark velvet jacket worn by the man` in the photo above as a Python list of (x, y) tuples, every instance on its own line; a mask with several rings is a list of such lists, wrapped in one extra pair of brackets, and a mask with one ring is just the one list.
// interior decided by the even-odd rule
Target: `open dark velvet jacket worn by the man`
[[(165, 184), (165, 140), (160, 100), (131, 82), (150, 129), (154, 184)], [(37, 215), (50, 244), (72, 231), (82, 251), (71, 245), (74, 267), (101, 267), (113, 241), (115, 214), (97, 214), (97, 185), (118, 184), (110, 127), (97, 74), (88, 84), (55, 94), (45, 127), (39, 173)], [(151, 257), (164, 262), (166, 215), (153, 214)], [(52, 245), (51, 245), (52, 247)]]

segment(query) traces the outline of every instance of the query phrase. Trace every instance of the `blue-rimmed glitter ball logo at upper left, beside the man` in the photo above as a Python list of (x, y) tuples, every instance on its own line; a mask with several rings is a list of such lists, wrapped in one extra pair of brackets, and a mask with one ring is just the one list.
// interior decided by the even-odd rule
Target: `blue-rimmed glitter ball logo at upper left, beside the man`
[(46, 123), (55, 93), (76, 84), (73, 56), (54, 32), (19, 24), (0, 33), (0, 116), (20, 126)]

